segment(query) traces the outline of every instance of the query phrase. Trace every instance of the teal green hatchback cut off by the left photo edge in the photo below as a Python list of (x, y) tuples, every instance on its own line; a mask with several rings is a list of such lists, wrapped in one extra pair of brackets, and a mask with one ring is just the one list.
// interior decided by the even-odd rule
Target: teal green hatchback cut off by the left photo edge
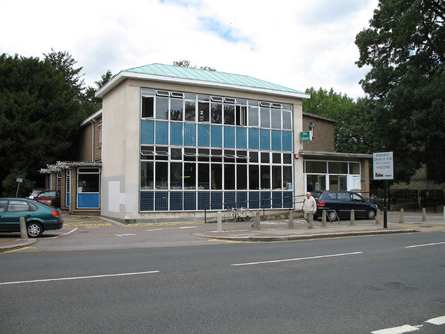
[(44, 231), (63, 228), (60, 209), (49, 207), (28, 198), (0, 198), (0, 232), (20, 232), (20, 217), (25, 218), (31, 238)]

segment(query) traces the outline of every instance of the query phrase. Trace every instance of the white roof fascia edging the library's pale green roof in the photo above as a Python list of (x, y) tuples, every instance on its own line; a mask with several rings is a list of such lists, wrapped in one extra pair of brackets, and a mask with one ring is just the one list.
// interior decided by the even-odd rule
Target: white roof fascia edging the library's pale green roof
[(283, 90), (272, 90), (272, 89), (266, 89), (266, 88), (255, 88), (255, 87), (248, 87), (248, 86), (238, 86), (238, 85), (232, 85), (232, 84), (222, 84), (219, 82), (211, 82), (211, 81), (202, 81), (202, 80), (195, 80), (195, 79), (183, 79), (183, 78), (175, 78), (175, 77), (163, 77), (159, 75), (154, 74), (144, 74), (144, 73), (135, 73), (135, 72), (120, 72), (118, 75), (116, 75), (111, 81), (108, 81), (108, 83), (103, 86), (101, 89), (97, 91), (95, 94), (95, 97), (104, 97), (106, 93), (108, 93), (111, 89), (115, 88), (115, 86), (118, 86), (124, 79), (143, 79), (143, 80), (152, 80), (152, 81), (163, 81), (163, 82), (172, 82), (175, 84), (189, 84), (194, 86), (206, 86), (206, 87), (213, 87), (213, 88), (228, 88), (233, 90), (240, 90), (244, 92), (252, 92), (252, 93), (263, 93), (267, 95), (280, 95), (280, 96), (286, 96), (286, 97), (296, 97), (298, 99), (307, 100), (311, 96), (309, 94), (305, 93), (292, 93), (292, 92), (285, 92)]

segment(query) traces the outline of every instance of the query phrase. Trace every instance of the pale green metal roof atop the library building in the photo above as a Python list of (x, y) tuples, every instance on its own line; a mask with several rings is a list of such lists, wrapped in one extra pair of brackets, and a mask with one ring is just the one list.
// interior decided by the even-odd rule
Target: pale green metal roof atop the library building
[(247, 75), (232, 74), (225, 72), (216, 72), (209, 70), (200, 70), (191, 67), (182, 67), (174, 65), (164, 65), (154, 63), (140, 67), (133, 67), (123, 72), (134, 72), (138, 74), (152, 74), (161, 77), (172, 77), (177, 79), (189, 79), (197, 81), (214, 82), (218, 84), (227, 84), (234, 86), (244, 86), (250, 88), (261, 88), (267, 90), (277, 90), (280, 92), (289, 92), (296, 94), (305, 94), (299, 90), (287, 88), (277, 84), (272, 84), (268, 81), (248, 77)]

